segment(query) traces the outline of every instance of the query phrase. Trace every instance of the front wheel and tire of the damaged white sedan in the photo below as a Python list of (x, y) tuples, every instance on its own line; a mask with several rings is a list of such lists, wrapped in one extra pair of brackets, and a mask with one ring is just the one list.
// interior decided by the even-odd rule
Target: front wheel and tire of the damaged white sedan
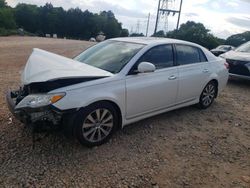
[(99, 102), (81, 109), (74, 121), (74, 135), (87, 147), (106, 143), (118, 127), (118, 115), (112, 104)]

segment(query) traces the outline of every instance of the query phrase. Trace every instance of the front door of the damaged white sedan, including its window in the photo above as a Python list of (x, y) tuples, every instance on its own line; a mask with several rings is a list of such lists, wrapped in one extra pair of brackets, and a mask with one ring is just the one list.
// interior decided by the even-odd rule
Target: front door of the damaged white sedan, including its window
[(172, 45), (160, 45), (147, 51), (135, 64), (150, 62), (152, 73), (130, 74), (126, 78), (126, 117), (135, 118), (175, 104), (178, 68), (174, 66)]

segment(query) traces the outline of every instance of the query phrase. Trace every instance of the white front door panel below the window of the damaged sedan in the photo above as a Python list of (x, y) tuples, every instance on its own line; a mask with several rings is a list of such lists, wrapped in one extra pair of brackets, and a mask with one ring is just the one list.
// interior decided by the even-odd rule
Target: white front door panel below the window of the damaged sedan
[(177, 91), (177, 67), (160, 69), (152, 73), (128, 75), (126, 77), (126, 118), (131, 119), (175, 104)]

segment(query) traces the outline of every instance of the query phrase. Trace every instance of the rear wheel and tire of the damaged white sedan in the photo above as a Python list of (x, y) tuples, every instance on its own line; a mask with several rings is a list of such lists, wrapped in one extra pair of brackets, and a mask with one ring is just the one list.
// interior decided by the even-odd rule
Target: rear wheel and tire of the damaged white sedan
[(207, 109), (210, 107), (216, 98), (217, 84), (214, 81), (209, 82), (203, 89), (200, 95), (199, 107)]

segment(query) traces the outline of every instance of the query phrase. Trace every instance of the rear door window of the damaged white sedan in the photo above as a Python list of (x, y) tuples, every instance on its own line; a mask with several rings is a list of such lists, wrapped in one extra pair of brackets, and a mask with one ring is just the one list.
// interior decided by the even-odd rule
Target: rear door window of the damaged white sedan
[(198, 48), (187, 45), (176, 45), (177, 63), (179, 65), (188, 65), (206, 61), (206, 58), (201, 58), (201, 52)]

